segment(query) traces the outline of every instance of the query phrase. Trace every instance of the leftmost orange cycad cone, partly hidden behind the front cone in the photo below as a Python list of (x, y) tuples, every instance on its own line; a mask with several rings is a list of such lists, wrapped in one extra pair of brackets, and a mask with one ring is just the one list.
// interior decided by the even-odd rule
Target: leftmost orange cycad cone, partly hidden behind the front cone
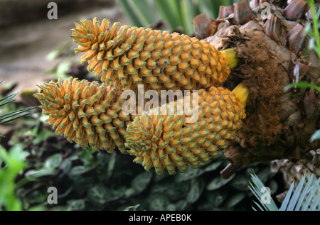
[(41, 102), (46, 120), (55, 128), (55, 133), (82, 148), (104, 148), (113, 153), (117, 145), (126, 153), (123, 135), (127, 124), (134, 117), (125, 115), (121, 93), (114, 87), (98, 82), (70, 79), (50, 82), (39, 86), (41, 93), (35, 94)]

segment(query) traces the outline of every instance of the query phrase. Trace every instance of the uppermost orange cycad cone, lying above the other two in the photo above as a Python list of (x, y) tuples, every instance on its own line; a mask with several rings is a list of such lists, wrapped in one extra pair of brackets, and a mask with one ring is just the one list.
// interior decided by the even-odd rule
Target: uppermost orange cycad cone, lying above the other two
[[(75, 23), (73, 38), (79, 47), (75, 53), (87, 52), (81, 62), (106, 84), (125, 89), (195, 90), (217, 87), (230, 74), (228, 60), (206, 40), (188, 35), (155, 31), (150, 28), (122, 26), (110, 28), (97, 18)], [(231, 63), (233, 66), (234, 63)]]

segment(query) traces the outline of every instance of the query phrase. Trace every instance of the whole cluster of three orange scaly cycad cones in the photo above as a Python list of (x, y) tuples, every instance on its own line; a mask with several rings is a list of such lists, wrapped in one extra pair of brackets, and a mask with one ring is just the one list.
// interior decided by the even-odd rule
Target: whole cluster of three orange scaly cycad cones
[[(218, 87), (235, 64), (234, 51), (220, 52), (205, 40), (167, 31), (129, 26), (118, 31), (119, 23), (110, 28), (107, 19), (75, 26), (75, 52), (86, 52), (81, 62), (88, 62), (87, 70), (102, 84), (70, 77), (39, 86), (35, 96), (58, 135), (108, 153), (117, 146), (159, 175), (164, 169), (174, 174), (176, 168), (196, 168), (235, 138), (245, 119), (247, 91)], [(182, 106), (196, 109), (196, 121), (188, 122), (188, 111), (177, 113), (178, 99), (142, 115), (127, 114), (122, 94), (137, 94), (139, 84), (145, 92), (191, 91)]]

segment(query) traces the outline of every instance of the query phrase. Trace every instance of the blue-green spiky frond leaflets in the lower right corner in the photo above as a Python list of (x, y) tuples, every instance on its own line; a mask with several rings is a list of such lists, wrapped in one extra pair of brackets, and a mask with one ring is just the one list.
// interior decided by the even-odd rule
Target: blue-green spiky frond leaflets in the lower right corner
[[(271, 198), (270, 203), (264, 203), (262, 201), (263, 194), (262, 188), (265, 187), (262, 181), (257, 177), (257, 175), (252, 174), (251, 179), (253, 184), (250, 182), (250, 190), (255, 197), (259, 200), (260, 204), (255, 202), (257, 207), (260, 210), (267, 210), (267, 211), (319, 211), (320, 205), (320, 196), (319, 196), (319, 182), (320, 178), (316, 181), (313, 179), (313, 175), (311, 177), (306, 178), (305, 176), (302, 177), (300, 180), (299, 185), (294, 190), (294, 182), (292, 182), (289, 191), (284, 198), (284, 201), (281, 204), (281, 207), (278, 208), (277, 205), (274, 203), (274, 200)], [(307, 182), (306, 182), (307, 180)], [(252, 207), (254, 210), (254, 207)]]

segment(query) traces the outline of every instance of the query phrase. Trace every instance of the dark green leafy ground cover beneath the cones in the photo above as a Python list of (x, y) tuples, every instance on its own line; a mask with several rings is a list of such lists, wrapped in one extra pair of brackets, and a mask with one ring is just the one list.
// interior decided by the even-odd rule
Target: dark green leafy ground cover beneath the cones
[[(24, 210), (250, 210), (250, 173), (267, 184), (277, 183), (269, 165), (260, 163), (222, 180), (220, 171), (227, 165), (223, 155), (200, 168), (159, 176), (132, 164), (131, 155), (97, 153), (69, 143), (55, 135), (44, 122), (46, 116), (37, 112), (36, 117), (37, 124), (19, 120), (6, 141), (6, 148), (21, 143), (28, 152), (26, 168), (16, 178)], [(48, 204), (48, 187), (57, 188), (58, 204)]]

